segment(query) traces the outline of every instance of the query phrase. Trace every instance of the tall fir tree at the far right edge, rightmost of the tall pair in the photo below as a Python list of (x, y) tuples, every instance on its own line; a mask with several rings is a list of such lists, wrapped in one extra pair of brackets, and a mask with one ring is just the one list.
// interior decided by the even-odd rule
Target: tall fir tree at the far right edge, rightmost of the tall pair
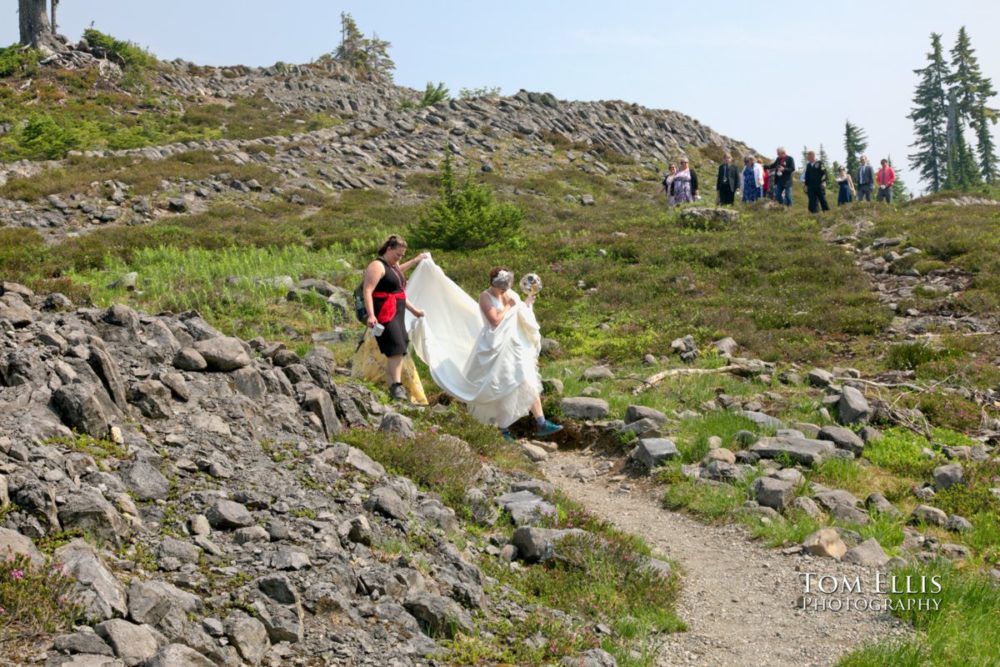
[(979, 59), (965, 26), (959, 29), (951, 50), (951, 67), (948, 84), (950, 92), (955, 94), (959, 124), (972, 128), (979, 157), (977, 171), (983, 180), (992, 182), (997, 175), (997, 156), (990, 125), (996, 123), (997, 110), (989, 106), (989, 100), (996, 96), (996, 91), (993, 82), (984, 77), (979, 68)]

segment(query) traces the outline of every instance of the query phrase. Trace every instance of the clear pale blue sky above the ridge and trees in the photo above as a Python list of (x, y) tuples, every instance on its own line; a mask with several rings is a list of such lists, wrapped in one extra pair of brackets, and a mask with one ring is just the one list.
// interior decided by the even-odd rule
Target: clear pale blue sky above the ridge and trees
[[(9, 44), (17, 3), (3, 4)], [(796, 159), (822, 143), (843, 160), (849, 118), (867, 131), (869, 156), (891, 154), (911, 188), (906, 115), (930, 33), (948, 50), (965, 25), (1000, 88), (996, 0), (62, 0), (59, 23), (75, 40), (93, 22), (167, 60), (270, 65), (335, 49), (341, 11), (391, 42), (401, 85), (622, 99), (689, 114), (765, 155), (783, 144)]]

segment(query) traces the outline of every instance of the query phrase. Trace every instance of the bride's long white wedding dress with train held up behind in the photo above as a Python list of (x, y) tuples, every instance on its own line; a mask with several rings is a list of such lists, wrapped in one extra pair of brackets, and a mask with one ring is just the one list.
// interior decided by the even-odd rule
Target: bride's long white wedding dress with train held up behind
[(526, 415), (542, 391), (538, 322), (515, 292), (508, 294), (516, 305), (494, 329), (479, 303), (430, 258), (406, 285), (407, 300), (425, 313), (406, 313), (414, 352), (439, 387), (468, 404), (476, 419), (500, 428)]

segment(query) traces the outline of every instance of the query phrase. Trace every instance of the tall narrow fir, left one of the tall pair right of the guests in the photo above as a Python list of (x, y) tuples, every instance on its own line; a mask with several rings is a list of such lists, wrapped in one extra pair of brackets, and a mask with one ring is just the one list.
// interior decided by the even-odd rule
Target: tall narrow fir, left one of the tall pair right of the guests
[(917, 152), (910, 155), (910, 164), (928, 182), (931, 192), (940, 190), (947, 180), (949, 162), (948, 140), (945, 134), (948, 122), (948, 103), (945, 84), (948, 65), (941, 49), (941, 35), (931, 33), (931, 51), (927, 54), (927, 67), (913, 70), (920, 75), (920, 82), (913, 94), (910, 118), (916, 141), (910, 144)]

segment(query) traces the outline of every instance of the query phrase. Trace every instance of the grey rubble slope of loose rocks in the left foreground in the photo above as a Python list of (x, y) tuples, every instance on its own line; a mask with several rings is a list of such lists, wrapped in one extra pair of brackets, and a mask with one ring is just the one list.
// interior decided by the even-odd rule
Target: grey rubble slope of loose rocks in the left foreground
[[(472, 546), (436, 494), (338, 441), (415, 432), (325, 348), (300, 357), (194, 312), (76, 308), (13, 283), (0, 326), (0, 553), (22, 572), (50, 557), (71, 582), (51, 613), (85, 623), (4, 664), (438, 664), (436, 639), (484, 619), (567, 622), (495, 581), (485, 595), (475, 564), (551, 557), (565, 533), (530, 527), (555, 513), (537, 495), (551, 485), (432, 432), (472, 462), (468, 525), (490, 530), (502, 507), (521, 526), (488, 554)], [(587, 655), (572, 664), (610, 664)]]

